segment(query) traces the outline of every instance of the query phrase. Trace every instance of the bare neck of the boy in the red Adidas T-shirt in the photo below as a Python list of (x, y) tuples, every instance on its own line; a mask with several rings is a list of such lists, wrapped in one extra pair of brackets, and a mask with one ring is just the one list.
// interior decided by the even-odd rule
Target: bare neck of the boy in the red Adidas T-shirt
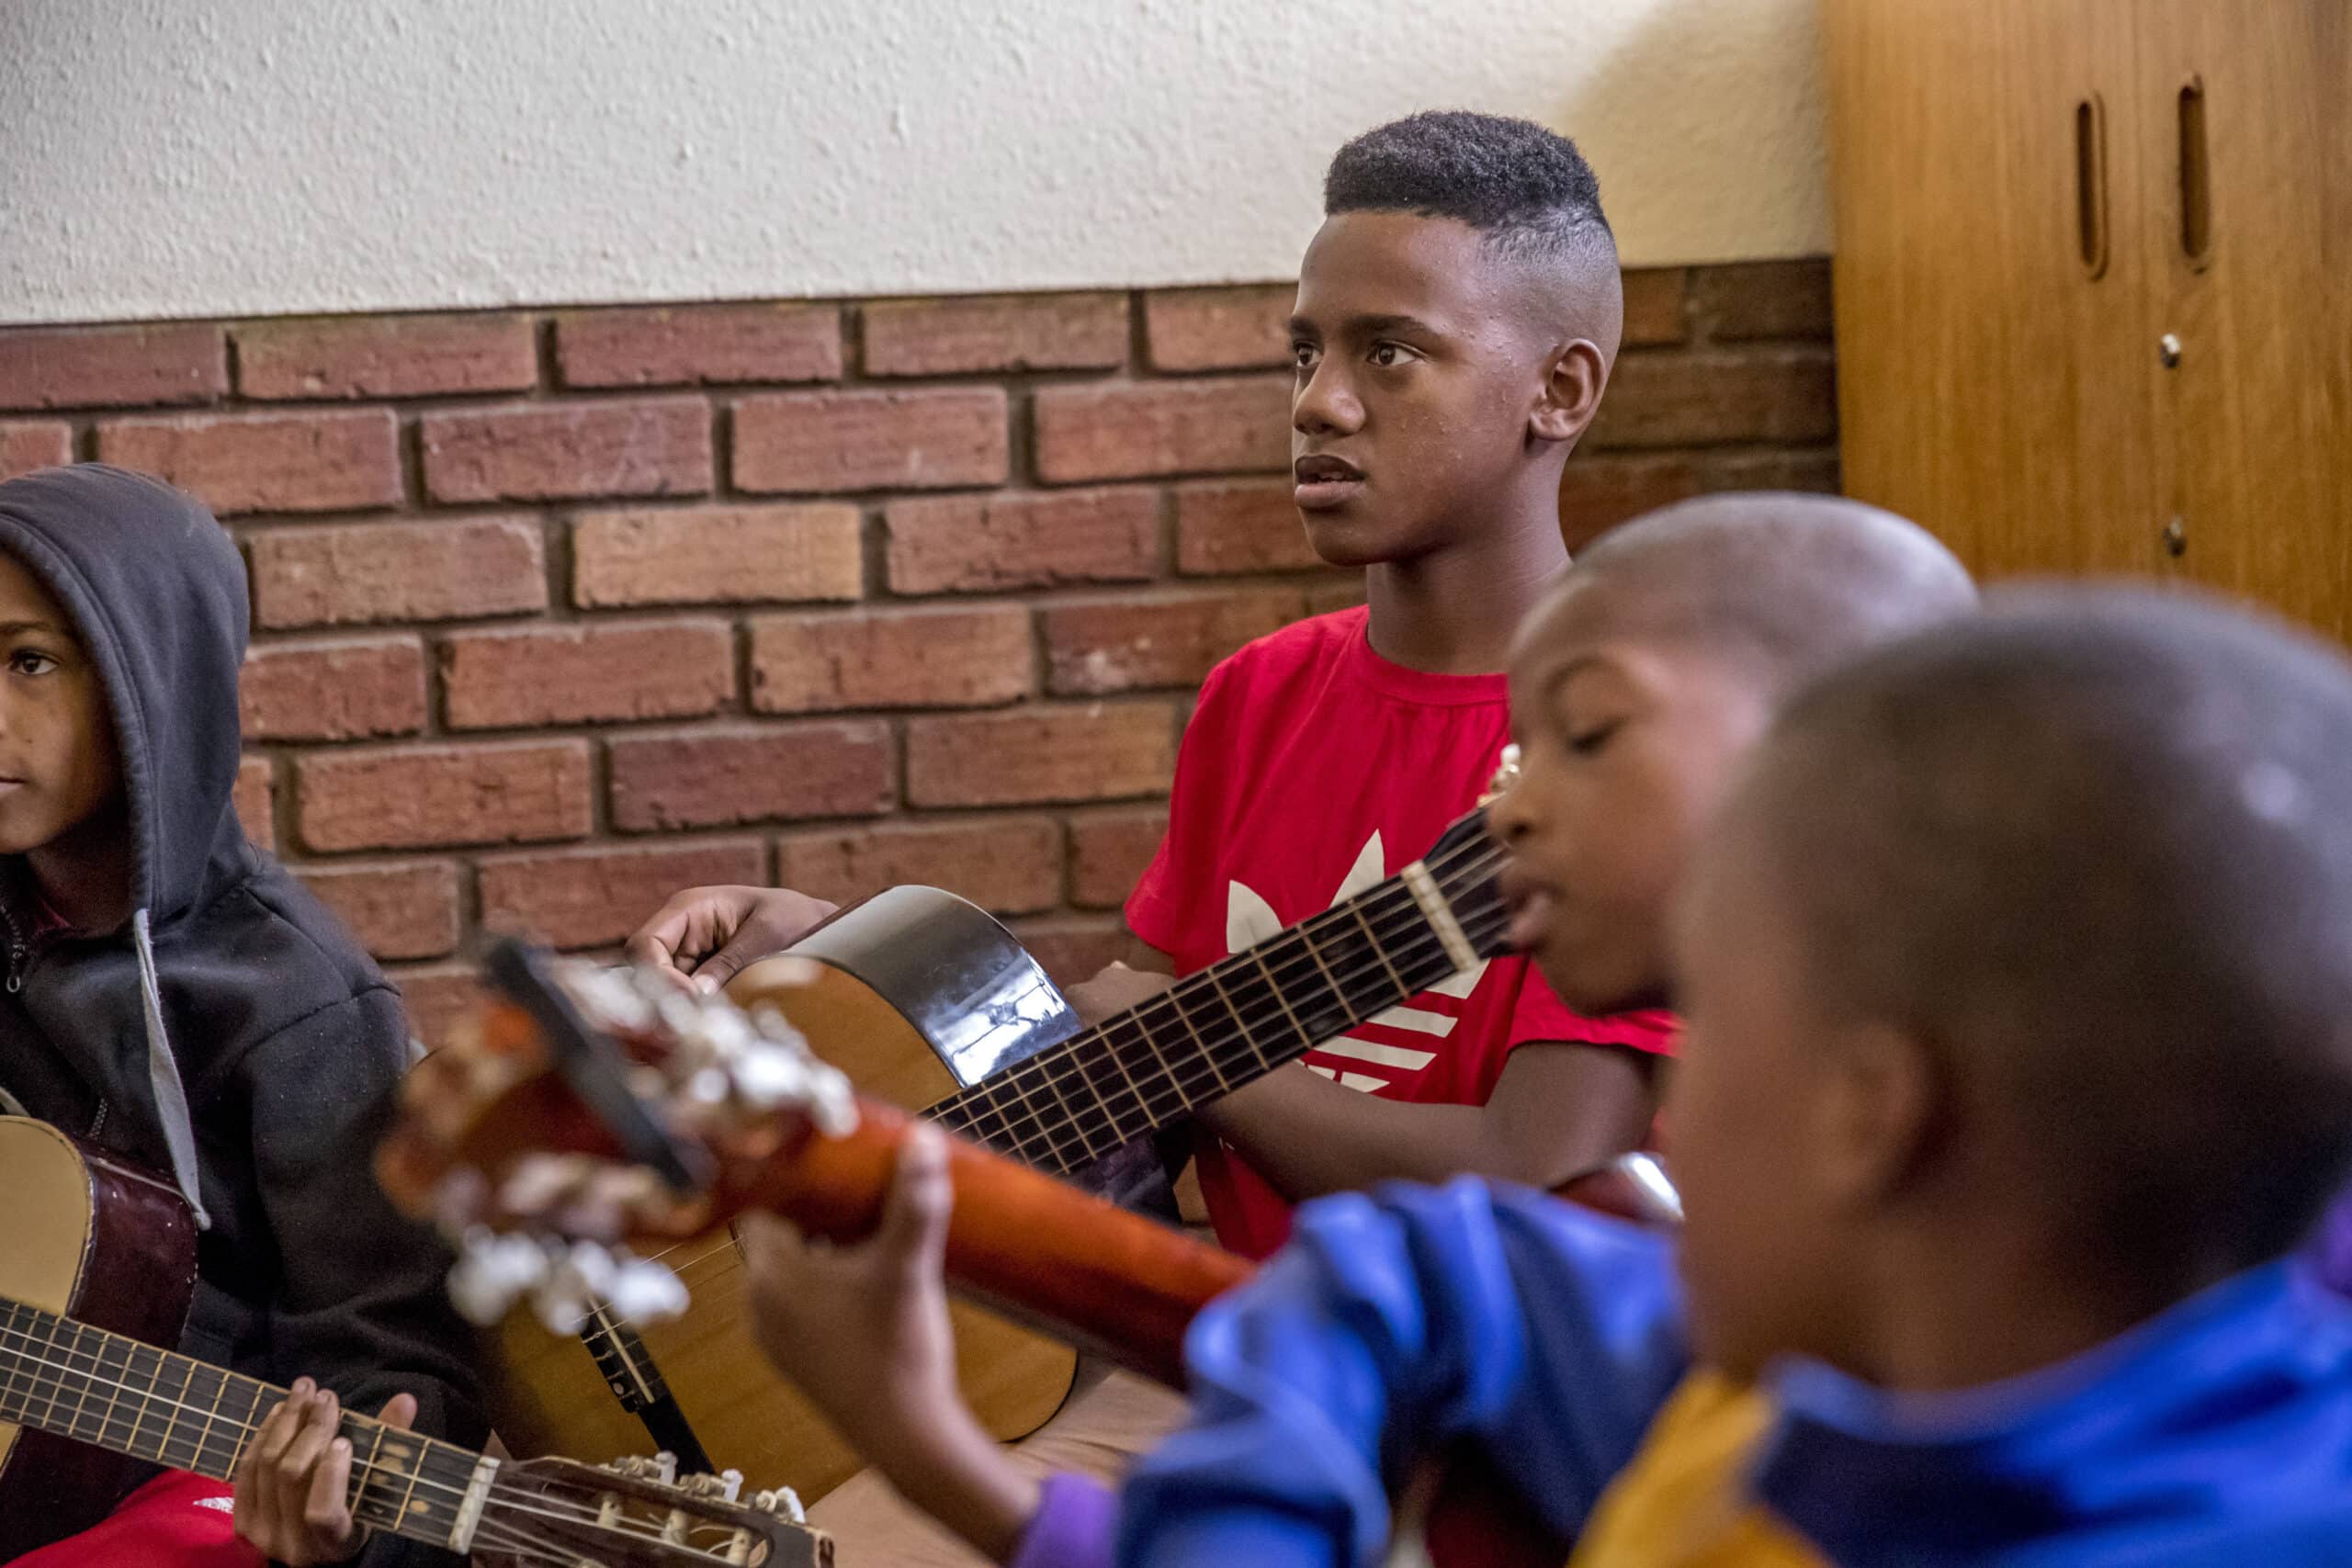
[[(1557, 487), (1550, 491), (1557, 496)], [(1557, 501), (1444, 550), (1364, 571), (1371, 651), (1432, 675), (1494, 675), (1519, 618), (1569, 564)]]

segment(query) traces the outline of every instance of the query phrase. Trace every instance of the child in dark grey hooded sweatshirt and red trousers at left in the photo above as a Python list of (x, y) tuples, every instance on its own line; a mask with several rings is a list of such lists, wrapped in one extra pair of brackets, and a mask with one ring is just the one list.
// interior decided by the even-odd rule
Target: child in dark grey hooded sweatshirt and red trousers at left
[(245, 628), (188, 496), (101, 465), (0, 484), (0, 1110), (169, 1178), (202, 1227), (179, 1349), (299, 1378), (233, 1502), (158, 1474), (42, 1568), (449, 1561), (341, 1512), (336, 1401), (485, 1434), (447, 1258), (367, 1166), (400, 997), (230, 804)]

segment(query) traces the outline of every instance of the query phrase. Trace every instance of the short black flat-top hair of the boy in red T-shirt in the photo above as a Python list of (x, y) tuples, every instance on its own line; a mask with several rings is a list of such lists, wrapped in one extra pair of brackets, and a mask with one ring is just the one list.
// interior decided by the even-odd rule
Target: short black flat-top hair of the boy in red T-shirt
[(1364, 132), (1324, 174), (1324, 216), (1343, 212), (1454, 219), (1510, 256), (1616, 252), (1602, 186), (1576, 143), (1503, 115), (1428, 110)]

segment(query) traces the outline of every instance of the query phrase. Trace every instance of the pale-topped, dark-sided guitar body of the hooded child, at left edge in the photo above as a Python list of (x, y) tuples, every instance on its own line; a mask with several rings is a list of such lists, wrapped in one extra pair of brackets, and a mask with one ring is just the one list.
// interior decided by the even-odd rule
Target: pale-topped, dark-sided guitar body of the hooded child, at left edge
[[(47, 1121), (0, 1117), (0, 1298), (179, 1345), (195, 1291), (195, 1220), (165, 1182)], [(106, 1519), (148, 1467), (0, 1422), (0, 1561)]]

